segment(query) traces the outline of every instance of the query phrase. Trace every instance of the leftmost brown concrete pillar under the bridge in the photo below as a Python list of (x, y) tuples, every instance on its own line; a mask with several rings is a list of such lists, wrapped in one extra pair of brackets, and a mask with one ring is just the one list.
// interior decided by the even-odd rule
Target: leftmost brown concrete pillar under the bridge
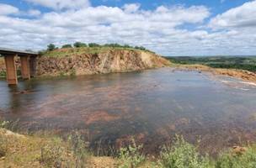
[(6, 55), (4, 56), (5, 66), (6, 66), (6, 74), (7, 74), (7, 82), (8, 85), (17, 85), (17, 71), (15, 66), (15, 55)]

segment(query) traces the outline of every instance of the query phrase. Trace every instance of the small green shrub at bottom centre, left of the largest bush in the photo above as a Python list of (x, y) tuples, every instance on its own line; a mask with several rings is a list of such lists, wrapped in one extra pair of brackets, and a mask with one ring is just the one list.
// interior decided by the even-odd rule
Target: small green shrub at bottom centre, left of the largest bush
[(140, 153), (143, 145), (136, 145), (134, 139), (132, 139), (132, 144), (128, 148), (120, 149), (120, 168), (136, 168), (140, 165), (146, 158), (145, 155)]

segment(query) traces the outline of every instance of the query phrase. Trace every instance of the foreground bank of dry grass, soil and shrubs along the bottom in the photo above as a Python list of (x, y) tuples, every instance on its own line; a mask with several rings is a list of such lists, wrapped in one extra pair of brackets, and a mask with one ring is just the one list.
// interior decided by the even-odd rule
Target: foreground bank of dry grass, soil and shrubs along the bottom
[(3, 129), (16, 127), (17, 122), (0, 122), (0, 167), (97, 168), (98, 159), (99, 167), (120, 168), (254, 168), (256, 165), (256, 145), (227, 150), (213, 159), (200, 154), (197, 146), (179, 136), (172, 145), (164, 146), (157, 158), (143, 155), (143, 146), (132, 140), (130, 145), (120, 149), (118, 157), (112, 157), (113, 163), (109, 165), (107, 160), (111, 157), (101, 160), (102, 157), (93, 156), (77, 131), (61, 139), (45, 132), (21, 135)]

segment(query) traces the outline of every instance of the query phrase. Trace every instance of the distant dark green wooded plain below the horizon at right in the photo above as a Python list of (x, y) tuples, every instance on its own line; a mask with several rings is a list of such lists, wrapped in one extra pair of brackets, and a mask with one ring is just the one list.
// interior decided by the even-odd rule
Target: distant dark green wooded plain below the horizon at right
[(192, 65), (201, 64), (213, 68), (240, 69), (256, 72), (256, 57), (227, 57), (227, 56), (205, 56), (205, 57), (167, 57), (173, 63)]

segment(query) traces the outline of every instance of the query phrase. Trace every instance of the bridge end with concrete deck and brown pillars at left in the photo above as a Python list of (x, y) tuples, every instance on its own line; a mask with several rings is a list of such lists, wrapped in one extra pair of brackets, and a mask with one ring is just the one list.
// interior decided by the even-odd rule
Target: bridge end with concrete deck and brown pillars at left
[(8, 85), (18, 84), (15, 56), (18, 56), (20, 59), (22, 78), (24, 80), (29, 80), (30, 77), (35, 76), (36, 58), (38, 53), (32, 51), (0, 48), (0, 56), (4, 57)]

